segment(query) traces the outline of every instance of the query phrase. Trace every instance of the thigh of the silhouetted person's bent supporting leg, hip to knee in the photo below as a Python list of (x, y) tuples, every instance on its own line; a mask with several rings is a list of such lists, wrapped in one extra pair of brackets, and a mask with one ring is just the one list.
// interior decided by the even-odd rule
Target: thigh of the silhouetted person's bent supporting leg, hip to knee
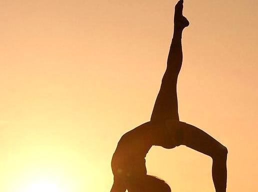
[(179, 127), (182, 131), (182, 141), (180, 144), (186, 145), (211, 157), (226, 150), (225, 146), (212, 136), (191, 124), (180, 122)]

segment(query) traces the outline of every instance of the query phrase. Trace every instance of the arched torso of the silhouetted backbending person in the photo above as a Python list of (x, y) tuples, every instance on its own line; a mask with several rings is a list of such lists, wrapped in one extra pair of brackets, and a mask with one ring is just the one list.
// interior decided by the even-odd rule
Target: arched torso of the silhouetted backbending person
[[(176, 145), (164, 126), (143, 123), (120, 138), (112, 157), (113, 173), (125, 170), (146, 174), (145, 156), (152, 145), (173, 148)], [(158, 141), (158, 144), (157, 142)]]

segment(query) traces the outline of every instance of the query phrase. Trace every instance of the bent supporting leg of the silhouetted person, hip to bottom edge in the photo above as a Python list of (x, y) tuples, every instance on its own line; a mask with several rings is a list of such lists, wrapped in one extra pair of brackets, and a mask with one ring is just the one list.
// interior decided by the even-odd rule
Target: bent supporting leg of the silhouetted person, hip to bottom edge
[(216, 192), (225, 192), (227, 148), (203, 130), (187, 123), (180, 122), (179, 124), (183, 135), (180, 144), (212, 158), (212, 179), (215, 190)]

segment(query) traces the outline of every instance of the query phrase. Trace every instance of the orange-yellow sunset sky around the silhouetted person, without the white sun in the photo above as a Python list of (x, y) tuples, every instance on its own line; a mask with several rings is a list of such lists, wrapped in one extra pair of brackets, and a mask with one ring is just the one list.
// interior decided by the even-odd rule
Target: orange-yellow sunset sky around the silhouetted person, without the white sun
[[(120, 136), (148, 121), (174, 0), (0, 0), (0, 191), (109, 191)], [(258, 3), (185, 0), (179, 115), (227, 146), (227, 191), (257, 191)], [(214, 191), (211, 159), (152, 147), (172, 191)], [(59, 191), (58, 191), (59, 192)]]

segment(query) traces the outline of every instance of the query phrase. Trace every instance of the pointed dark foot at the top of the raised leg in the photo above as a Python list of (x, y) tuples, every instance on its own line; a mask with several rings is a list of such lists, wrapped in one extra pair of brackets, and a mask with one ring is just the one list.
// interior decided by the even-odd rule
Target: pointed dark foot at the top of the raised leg
[(189, 21), (182, 15), (183, 0), (179, 0), (174, 7), (174, 27), (177, 30), (182, 30), (189, 25)]

